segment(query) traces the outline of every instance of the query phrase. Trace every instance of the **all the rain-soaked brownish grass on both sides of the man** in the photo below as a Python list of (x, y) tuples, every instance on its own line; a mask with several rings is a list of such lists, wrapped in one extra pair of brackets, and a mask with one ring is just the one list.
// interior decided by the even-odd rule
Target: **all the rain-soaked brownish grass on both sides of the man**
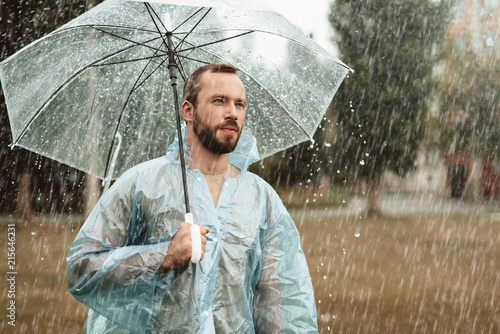
[[(295, 218), (308, 258), (320, 333), (500, 332), (500, 216)], [(82, 333), (86, 308), (68, 292), (65, 257), (78, 224), (16, 227), (16, 327)], [(0, 225), (7, 239), (7, 225)], [(6, 251), (0, 268), (7, 272)]]

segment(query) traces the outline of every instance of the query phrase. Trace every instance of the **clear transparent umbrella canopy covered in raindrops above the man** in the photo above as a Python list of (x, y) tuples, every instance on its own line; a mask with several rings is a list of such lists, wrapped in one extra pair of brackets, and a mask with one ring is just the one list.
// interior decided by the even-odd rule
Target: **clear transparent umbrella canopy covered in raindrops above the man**
[(179, 88), (204, 63), (240, 70), (261, 158), (311, 139), (349, 68), (259, 2), (231, 3), (108, 0), (4, 60), (13, 145), (102, 179), (164, 155), (169, 40)]

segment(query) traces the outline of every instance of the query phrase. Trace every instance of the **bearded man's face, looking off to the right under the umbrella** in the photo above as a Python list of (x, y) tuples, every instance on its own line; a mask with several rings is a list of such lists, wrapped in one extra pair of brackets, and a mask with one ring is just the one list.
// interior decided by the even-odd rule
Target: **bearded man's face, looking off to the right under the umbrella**
[(246, 93), (232, 73), (205, 72), (193, 115), (193, 130), (200, 142), (217, 154), (234, 151), (243, 128)]

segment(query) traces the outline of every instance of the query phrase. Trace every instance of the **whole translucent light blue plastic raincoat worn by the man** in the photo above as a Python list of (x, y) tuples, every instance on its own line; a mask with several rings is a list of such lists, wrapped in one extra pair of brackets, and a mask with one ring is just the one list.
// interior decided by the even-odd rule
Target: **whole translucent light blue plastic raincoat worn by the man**
[(241, 172), (226, 178), (217, 207), (203, 174), (188, 170), (207, 249), (198, 265), (166, 273), (185, 211), (177, 141), (115, 182), (67, 257), (69, 289), (89, 307), (87, 333), (317, 333), (297, 229), (275, 191), (247, 171), (257, 160), (244, 131), (229, 160)]

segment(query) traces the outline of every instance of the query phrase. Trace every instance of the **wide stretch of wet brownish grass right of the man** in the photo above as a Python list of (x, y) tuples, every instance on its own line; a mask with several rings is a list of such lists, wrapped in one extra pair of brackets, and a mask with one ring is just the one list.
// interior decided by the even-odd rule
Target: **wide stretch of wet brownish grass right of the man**
[(498, 215), (302, 218), (320, 333), (499, 333)]

